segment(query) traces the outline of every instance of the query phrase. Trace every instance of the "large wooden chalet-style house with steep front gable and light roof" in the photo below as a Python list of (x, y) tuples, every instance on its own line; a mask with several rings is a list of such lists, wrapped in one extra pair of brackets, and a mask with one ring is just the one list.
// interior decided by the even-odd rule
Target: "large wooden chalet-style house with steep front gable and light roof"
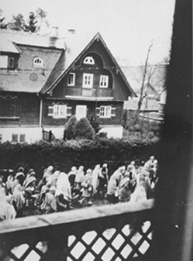
[(58, 38), (1, 30), (0, 140), (63, 138), (70, 116), (98, 116), (101, 131), (122, 137), (123, 103), (135, 92), (99, 32)]

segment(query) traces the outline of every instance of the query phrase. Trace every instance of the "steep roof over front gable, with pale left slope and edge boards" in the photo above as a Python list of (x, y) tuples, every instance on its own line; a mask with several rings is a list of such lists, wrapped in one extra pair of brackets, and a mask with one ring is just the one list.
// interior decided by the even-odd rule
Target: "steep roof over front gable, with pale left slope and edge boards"
[(45, 94), (46, 92), (51, 92), (51, 90), (53, 90), (58, 82), (70, 71), (71, 68), (73, 68), (73, 64), (78, 59), (80, 59), (80, 57), (85, 53), (85, 51), (87, 51), (87, 49), (89, 49), (95, 40), (101, 40), (101, 43), (104, 45), (106, 51), (111, 56), (113, 63), (118, 68), (118, 71), (125, 81), (125, 84), (130, 89), (132, 96), (136, 96), (135, 92), (132, 90), (132, 87), (130, 87), (130, 84), (127, 82), (123, 71), (121, 71), (118, 63), (116, 62), (116, 59), (114, 59), (111, 51), (109, 51), (107, 48), (99, 32), (97, 32), (97, 34), (92, 38), (90, 35), (71, 35), (70, 37), (66, 37), (66, 51), (64, 51), (63, 54), (61, 54), (60, 59), (58, 59), (58, 62), (56, 63), (56, 66), (51, 72), (51, 75), (42, 88), (41, 93)]

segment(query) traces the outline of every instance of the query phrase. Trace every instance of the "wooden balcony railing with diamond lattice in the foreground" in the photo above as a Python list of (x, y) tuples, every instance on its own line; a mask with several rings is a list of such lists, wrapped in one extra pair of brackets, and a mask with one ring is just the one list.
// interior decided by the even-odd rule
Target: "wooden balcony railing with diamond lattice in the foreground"
[(143, 260), (154, 200), (0, 222), (0, 260)]

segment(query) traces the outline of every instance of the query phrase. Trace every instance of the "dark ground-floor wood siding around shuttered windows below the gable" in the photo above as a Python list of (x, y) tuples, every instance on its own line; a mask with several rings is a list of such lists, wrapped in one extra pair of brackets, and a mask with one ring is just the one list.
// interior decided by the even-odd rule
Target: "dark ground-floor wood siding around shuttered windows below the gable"
[(89, 119), (92, 116), (97, 115), (97, 108), (100, 106), (111, 106), (116, 108), (116, 115), (111, 117), (111, 119), (100, 118), (102, 125), (120, 125), (122, 122), (122, 113), (123, 113), (123, 102), (88, 102), (88, 101), (75, 101), (75, 100), (54, 100), (54, 99), (46, 99), (44, 101), (44, 109), (43, 109), (43, 121), (42, 127), (46, 126), (65, 126), (66, 122), (70, 118), (70, 115), (65, 119), (54, 119), (53, 116), (49, 116), (49, 107), (52, 107), (54, 104), (65, 104), (68, 108), (70, 108), (71, 116), (76, 113), (77, 105), (86, 105), (87, 106), (87, 118)]

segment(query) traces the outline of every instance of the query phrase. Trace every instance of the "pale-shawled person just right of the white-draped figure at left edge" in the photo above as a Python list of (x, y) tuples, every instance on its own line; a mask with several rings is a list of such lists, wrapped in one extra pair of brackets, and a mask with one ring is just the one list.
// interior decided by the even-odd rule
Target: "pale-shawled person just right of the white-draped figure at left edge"
[(15, 211), (17, 212), (17, 217), (23, 216), (24, 205), (25, 205), (25, 198), (21, 191), (20, 176), (17, 176), (13, 181), (13, 206), (15, 207)]

